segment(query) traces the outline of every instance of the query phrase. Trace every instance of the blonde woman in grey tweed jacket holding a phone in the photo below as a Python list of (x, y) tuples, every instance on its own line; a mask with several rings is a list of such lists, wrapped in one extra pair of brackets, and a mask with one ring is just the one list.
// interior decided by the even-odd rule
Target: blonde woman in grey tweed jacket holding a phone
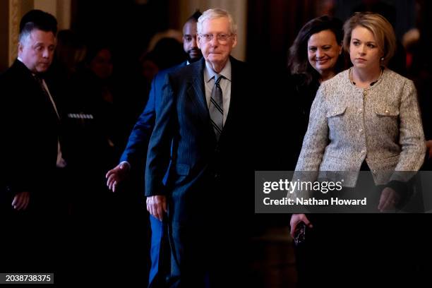
[[(296, 171), (315, 171), (317, 175), (325, 171), (354, 172), (349, 174), (348, 179), (344, 179), (347, 187), (356, 186), (358, 173), (355, 172), (370, 169), (375, 184), (383, 185), (378, 204), (380, 211), (393, 208), (400, 198), (395, 190), (400, 184), (398, 181), (406, 179), (397, 178), (398, 175), (393, 172), (417, 171), (426, 152), (414, 84), (412, 80), (385, 68), (385, 64), (395, 52), (395, 46), (392, 26), (379, 14), (356, 13), (347, 20), (344, 24), (344, 49), (349, 53), (353, 66), (320, 85), (311, 107), (308, 131), (296, 164)], [(308, 217), (312, 216), (314, 215)], [(344, 221), (349, 222), (346, 219), (358, 219), (342, 218), (340, 215), (321, 215), (323, 217), (318, 219), (320, 215), (315, 216), (312, 219), (315, 222), (330, 222), (325, 229), (319, 228), (325, 236), (325, 243), (318, 245), (322, 245), (321, 249), (328, 250), (333, 250), (330, 246), (335, 245), (332, 244), (332, 236), (341, 232), (333, 230), (332, 227)], [(368, 232), (373, 232), (370, 223), (367, 226), (364, 224), (368, 219), (367, 215), (362, 216), (364, 217), (361, 217), (358, 227), (352, 222), (345, 227), (349, 226), (347, 229), (354, 229), (353, 231), (364, 231), (366, 228)], [(292, 236), (300, 222), (312, 227), (314, 221), (310, 222), (308, 217), (304, 214), (292, 215)], [(376, 219), (373, 219), (373, 222), (375, 221)], [(318, 223), (316, 226), (312, 230), (318, 229)], [(318, 234), (317, 231), (313, 233)], [(359, 237), (364, 235), (361, 233)], [(305, 243), (308, 241), (307, 237)], [(347, 239), (338, 240), (343, 243)], [(326, 244), (330, 246), (325, 246)], [(310, 252), (316, 253), (313, 260), (300, 260), (308, 265), (319, 265), (319, 251), (316, 249)], [(341, 255), (343, 253), (345, 252), (342, 251)], [(333, 255), (324, 256), (326, 261), (329, 257)], [(382, 258), (385, 256), (382, 255)], [(355, 264), (356, 260), (349, 262), (353, 263)], [(322, 272), (326, 266), (331, 265), (323, 264), (317, 270), (311, 268), (311, 271)], [(387, 268), (390, 270), (390, 267), (391, 263)], [(368, 263), (368, 269), (371, 269), (371, 263)], [(300, 276), (299, 272), (299, 280), (304, 281)]]

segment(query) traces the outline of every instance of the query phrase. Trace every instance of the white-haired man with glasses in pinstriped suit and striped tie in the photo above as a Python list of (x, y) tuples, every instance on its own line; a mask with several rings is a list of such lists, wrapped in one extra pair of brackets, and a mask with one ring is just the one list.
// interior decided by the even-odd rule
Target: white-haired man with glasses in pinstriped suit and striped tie
[[(168, 211), (172, 287), (231, 287), (240, 277), (243, 208), (253, 211), (251, 203), (241, 207), (239, 200), (251, 157), (245, 141), (251, 137), (248, 103), (254, 98), (246, 64), (230, 56), (235, 46), (232, 16), (222, 9), (205, 11), (198, 19), (203, 59), (168, 73), (164, 84), (145, 194), (151, 215), (162, 218)], [(253, 194), (248, 197), (253, 200)]]

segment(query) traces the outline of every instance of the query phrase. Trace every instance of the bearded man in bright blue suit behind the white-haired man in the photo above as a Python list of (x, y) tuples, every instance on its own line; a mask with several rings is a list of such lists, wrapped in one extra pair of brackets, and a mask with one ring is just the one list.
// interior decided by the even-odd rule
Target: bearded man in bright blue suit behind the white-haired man
[[(150, 135), (155, 126), (156, 110), (160, 107), (162, 87), (167, 73), (176, 71), (181, 67), (201, 59), (202, 54), (196, 43), (196, 23), (200, 16), (201, 13), (196, 11), (196, 13), (193, 13), (193, 15), (188, 18), (183, 27), (183, 47), (187, 55), (187, 61), (160, 71), (152, 80), (152, 88), (150, 90), (148, 102), (145, 105), (143, 113), (133, 127), (131, 136), (129, 136), (128, 139), (128, 144), (121, 155), (120, 164), (107, 173), (107, 186), (112, 189), (112, 191), (116, 191), (119, 184), (131, 174), (143, 173), (148, 141), (150, 140)], [(158, 200), (162, 203), (166, 203), (164, 196)], [(151, 268), (149, 287), (163, 287), (165, 277), (169, 273), (170, 255), (167, 243), (167, 225), (166, 222), (162, 222), (162, 216), (156, 218), (152, 215), (150, 215), (150, 224), (152, 239), (150, 247)]]

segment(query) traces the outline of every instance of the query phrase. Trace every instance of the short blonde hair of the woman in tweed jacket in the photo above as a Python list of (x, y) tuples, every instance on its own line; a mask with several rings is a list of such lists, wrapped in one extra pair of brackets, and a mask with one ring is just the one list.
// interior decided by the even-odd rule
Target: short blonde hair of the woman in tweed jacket
[(344, 50), (349, 53), (352, 30), (361, 26), (372, 32), (380, 52), (383, 65), (388, 64), (396, 51), (396, 36), (390, 22), (378, 13), (356, 12), (344, 23)]

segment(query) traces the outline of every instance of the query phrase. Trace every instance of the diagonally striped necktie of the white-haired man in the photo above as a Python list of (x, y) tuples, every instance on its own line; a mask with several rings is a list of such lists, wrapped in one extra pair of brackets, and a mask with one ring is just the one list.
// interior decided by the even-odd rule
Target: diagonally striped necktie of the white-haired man
[(224, 109), (222, 101), (222, 89), (220, 88), (220, 80), (224, 76), (219, 74), (215, 75), (215, 85), (212, 88), (212, 96), (210, 97), (210, 106), (208, 111), (210, 113), (210, 121), (212, 122), (213, 129), (215, 130), (216, 139), (219, 140), (220, 133), (224, 124)]

